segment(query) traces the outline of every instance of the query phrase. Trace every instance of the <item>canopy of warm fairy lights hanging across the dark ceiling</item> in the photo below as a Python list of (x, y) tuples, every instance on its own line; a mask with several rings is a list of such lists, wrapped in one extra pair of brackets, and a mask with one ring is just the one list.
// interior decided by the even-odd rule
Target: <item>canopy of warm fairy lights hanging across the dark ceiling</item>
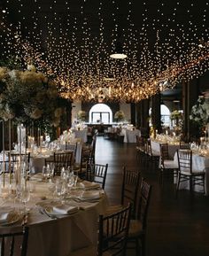
[[(72, 101), (138, 102), (209, 69), (208, 1), (136, 2), (7, 0), (2, 58), (34, 64)], [(118, 40), (128, 58), (110, 58)]]

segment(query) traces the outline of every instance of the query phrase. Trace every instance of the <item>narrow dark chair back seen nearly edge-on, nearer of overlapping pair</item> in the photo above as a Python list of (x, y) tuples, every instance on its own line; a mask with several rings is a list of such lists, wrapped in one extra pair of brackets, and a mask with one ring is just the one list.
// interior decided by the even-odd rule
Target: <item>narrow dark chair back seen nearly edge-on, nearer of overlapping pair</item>
[(147, 215), (151, 200), (151, 185), (142, 179), (141, 191), (139, 196), (137, 219), (142, 222), (143, 230), (146, 229)]

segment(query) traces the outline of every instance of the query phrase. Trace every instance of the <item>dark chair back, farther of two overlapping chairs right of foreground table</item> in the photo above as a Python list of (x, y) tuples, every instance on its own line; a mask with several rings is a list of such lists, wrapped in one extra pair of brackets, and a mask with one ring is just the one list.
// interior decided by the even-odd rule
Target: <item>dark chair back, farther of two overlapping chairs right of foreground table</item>
[(121, 205), (126, 206), (128, 203), (132, 205), (132, 217), (135, 218), (136, 200), (138, 196), (139, 180), (141, 173), (127, 170), (123, 167), (123, 181), (121, 188)]

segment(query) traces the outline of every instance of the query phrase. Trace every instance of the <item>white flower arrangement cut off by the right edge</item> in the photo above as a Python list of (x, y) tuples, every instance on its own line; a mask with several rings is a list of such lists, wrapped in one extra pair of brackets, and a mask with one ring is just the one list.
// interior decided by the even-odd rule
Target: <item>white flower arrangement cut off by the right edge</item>
[(190, 112), (190, 120), (204, 127), (209, 123), (209, 101), (204, 97), (197, 99), (197, 104), (193, 105)]

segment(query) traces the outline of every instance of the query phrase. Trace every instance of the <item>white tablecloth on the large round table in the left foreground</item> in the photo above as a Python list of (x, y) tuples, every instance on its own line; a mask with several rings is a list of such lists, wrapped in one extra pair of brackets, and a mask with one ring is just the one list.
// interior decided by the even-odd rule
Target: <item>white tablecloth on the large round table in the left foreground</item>
[[(31, 199), (27, 204), (27, 207), (31, 208), (27, 223), (29, 226), (27, 256), (66, 256), (83, 246), (97, 245), (97, 219), (99, 213), (105, 212), (107, 206), (105, 195), (96, 203), (77, 203), (77, 206), (87, 206), (87, 208), (52, 220), (40, 213), (35, 206), (35, 202), (40, 201), (43, 195), (50, 198), (51, 193), (47, 183), (36, 182), (35, 187), (36, 191), (31, 193)], [(4, 206), (11, 205), (12, 202), (4, 204)], [(17, 229), (19, 225), (21, 220), (12, 226), (0, 227), (0, 232), (10, 232), (12, 229)]]

